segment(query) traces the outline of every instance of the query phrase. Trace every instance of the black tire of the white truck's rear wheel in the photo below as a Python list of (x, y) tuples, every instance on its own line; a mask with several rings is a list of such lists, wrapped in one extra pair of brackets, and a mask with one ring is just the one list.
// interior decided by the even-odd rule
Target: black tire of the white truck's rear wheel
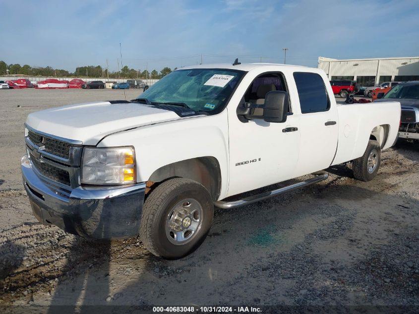
[[(368, 159), (372, 156), (372, 159)], [(371, 167), (372, 160), (375, 159), (375, 166)], [(378, 169), (381, 164), (381, 147), (376, 140), (370, 139), (366, 146), (365, 152), (362, 157), (359, 157), (352, 161), (352, 170), (354, 172), (355, 179), (360, 181), (371, 181), (377, 175)]]

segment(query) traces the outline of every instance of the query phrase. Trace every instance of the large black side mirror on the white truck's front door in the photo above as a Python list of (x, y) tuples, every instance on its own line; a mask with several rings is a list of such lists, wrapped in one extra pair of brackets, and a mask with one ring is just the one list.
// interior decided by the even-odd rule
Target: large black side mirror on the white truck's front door
[(287, 121), (288, 93), (283, 91), (271, 91), (265, 96), (263, 120), (266, 122), (282, 123)]

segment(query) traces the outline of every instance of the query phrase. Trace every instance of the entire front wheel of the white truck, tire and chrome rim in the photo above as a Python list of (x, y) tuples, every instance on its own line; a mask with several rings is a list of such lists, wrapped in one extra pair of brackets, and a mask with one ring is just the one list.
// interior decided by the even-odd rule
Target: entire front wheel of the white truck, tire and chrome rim
[(201, 184), (184, 178), (168, 180), (144, 202), (142, 243), (156, 256), (181, 258), (205, 240), (213, 214), (211, 195)]

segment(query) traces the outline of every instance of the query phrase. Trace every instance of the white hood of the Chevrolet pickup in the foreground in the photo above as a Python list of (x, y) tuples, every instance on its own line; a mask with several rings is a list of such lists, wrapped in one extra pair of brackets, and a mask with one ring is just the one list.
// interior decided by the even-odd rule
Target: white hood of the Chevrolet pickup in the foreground
[(96, 145), (104, 136), (137, 126), (181, 119), (175, 112), (137, 103), (102, 101), (30, 114), (26, 125), (62, 138)]

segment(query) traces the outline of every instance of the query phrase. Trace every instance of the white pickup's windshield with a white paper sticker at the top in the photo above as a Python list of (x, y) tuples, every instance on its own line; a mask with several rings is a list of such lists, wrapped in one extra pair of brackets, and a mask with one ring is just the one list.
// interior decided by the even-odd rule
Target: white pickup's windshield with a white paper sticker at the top
[(138, 98), (149, 103), (184, 103), (195, 111), (222, 109), (244, 72), (230, 69), (185, 69), (166, 75)]

